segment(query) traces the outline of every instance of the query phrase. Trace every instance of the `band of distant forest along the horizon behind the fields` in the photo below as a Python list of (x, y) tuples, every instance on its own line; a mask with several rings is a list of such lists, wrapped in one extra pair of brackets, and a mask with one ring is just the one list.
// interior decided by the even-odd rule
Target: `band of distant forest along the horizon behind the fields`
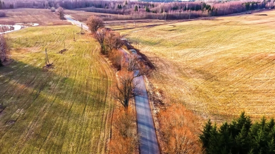
[[(152, 1), (152, 0), (150, 0)], [(158, 1), (158, 0), (156, 0)], [(186, 19), (220, 16), (259, 8), (274, 8), (275, 0), (242, 1), (107, 1), (107, 0), (2, 0), (0, 9), (32, 7), (65, 9), (83, 8), (84, 11), (121, 14), (117, 19)], [(127, 18), (123, 15), (128, 15)]]

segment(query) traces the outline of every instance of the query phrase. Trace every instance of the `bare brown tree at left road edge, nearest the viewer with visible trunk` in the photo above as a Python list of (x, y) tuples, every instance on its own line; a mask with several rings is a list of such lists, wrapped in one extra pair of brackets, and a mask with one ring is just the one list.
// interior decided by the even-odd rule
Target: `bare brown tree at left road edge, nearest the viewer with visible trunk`
[(113, 98), (121, 103), (125, 110), (127, 110), (130, 98), (139, 94), (133, 89), (139, 84), (138, 80), (134, 80), (132, 72), (121, 71), (118, 76), (118, 81), (115, 84)]

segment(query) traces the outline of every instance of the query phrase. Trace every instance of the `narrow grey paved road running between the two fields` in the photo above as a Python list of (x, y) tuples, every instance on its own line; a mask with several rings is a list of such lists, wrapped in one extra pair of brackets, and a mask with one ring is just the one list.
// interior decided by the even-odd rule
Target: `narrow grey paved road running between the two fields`
[[(68, 15), (64, 17), (70, 22), (81, 27), (81, 22), (73, 20)], [(88, 30), (88, 26), (82, 23), (82, 27)], [(123, 56), (127, 56), (127, 53), (120, 49), (123, 52)], [(138, 71), (134, 75), (138, 74)], [(134, 78), (134, 81), (138, 81), (138, 86), (134, 89), (135, 92), (139, 91), (140, 95), (134, 97), (135, 109), (136, 109), (136, 119), (137, 119), (137, 131), (140, 135), (139, 139), (139, 150), (140, 154), (159, 154), (159, 147), (156, 139), (156, 133), (152, 118), (152, 112), (150, 104), (148, 101), (148, 94), (145, 86), (143, 76)]]

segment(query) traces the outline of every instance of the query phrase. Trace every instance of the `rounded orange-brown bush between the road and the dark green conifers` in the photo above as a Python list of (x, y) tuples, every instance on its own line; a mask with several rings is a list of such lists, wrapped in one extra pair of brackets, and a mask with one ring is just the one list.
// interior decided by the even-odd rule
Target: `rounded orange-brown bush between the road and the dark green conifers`
[(159, 115), (165, 154), (201, 154), (195, 115), (183, 105), (173, 104)]

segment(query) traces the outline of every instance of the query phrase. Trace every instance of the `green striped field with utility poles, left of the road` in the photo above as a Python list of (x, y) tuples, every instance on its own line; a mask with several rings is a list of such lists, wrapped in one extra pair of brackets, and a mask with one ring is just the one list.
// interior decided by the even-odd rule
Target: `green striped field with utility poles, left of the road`
[[(110, 136), (114, 77), (89, 34), (76, 26), (8, 34), (13, 62), (0, 67), (0, 154), (103, 154)], [(63, 54), (58, 53), (65, 48)], [(53, 62), (45, 65), (44, 50)]]

